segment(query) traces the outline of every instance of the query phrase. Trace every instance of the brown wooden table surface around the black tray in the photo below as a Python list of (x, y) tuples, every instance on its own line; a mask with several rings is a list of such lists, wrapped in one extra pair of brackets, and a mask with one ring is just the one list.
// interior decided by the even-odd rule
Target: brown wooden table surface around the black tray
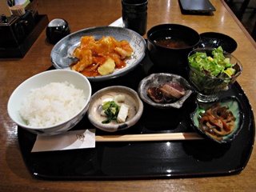
[[(178, 0), (150, 0), (148, 29), (161, 23), (178, 23), (190, 26), (198, 33), (215, 31), (228, 34), (238, 42), (234, 55), (243, 65), (238, 78), (251, 106), (256, 109), (255, 55), (256, 44), (250, 34), (234, 17), (225, 2), (211, 0), (217, 11), (213, 16), (181, 14)], [(44, 0), (39, 1), (39, 14), (49, 20), (65, 18), (71, 32), (90, 26), (107, 26), (121, 17), (120, 0)], [(146, 36), (144, 36), (146, 38)], [(43, 181), (35, 179), (22, 159), (18, 146), (17, 125), (7, 114), (10, 94), (26, 78), (47, 70), (51, 66), (50, 51), (53, 45), (46, 42), (44, 30), (24, 58), (0, 58), (0, 191), (255, 191), (256, 151), (241, 174), (209, 178), (150, 179), (130, 181)], [(255, 112), (254, 112), (255, 115)]]

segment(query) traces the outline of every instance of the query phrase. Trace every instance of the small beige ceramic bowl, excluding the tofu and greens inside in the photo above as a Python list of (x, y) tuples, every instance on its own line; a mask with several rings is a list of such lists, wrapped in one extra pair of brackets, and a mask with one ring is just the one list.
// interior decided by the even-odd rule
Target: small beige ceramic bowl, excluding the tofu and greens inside
[[(126, 99), (124, 103), (130, 106), (126, 122), (118, 123), (117, 121), (112, 120), (110, 123), (103, 124), (102, 121), (106, 120), (106, 117), (100, 114), (98, 110), (99, 106), (101, 106), (104, 101), (113, 100), (114, 96), (118, 94), (125, 95)], [(109, 86), (102, 90), (98, 90), (98, 92), (92, 96), (87, 114), (90, 122), (98, 129), (114, 132), (117, 130), (126, 130), (130, 126), (134, 126), (139, 118), (141, 118), (142, 112), (143, 103), (136, 91), (126, 86)]]

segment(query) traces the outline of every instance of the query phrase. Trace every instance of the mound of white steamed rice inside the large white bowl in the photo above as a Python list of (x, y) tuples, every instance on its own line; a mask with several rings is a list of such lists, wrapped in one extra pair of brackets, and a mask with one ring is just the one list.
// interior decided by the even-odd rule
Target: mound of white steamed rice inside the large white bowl
[(51, 82), (31, 90), (20, 109), (28, 126), (53, 126), (77, 114), (86, 102), (83, 90), (68, 82)]

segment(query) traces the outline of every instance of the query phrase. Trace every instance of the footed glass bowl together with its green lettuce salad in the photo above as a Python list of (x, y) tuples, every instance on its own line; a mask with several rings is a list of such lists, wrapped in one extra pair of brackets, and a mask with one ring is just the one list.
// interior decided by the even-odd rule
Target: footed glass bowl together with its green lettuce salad
[(188, 55), (190, 85), (198, 102), (215, 102), (242, 74), (242, 64), (232, 54), (214, 48), (194, 49)]

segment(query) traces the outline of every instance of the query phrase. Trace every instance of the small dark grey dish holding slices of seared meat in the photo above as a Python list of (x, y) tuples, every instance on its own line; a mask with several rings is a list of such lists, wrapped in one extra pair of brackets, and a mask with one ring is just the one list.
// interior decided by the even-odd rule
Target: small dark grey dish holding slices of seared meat
[(177, 74), (150, 74), (138, 85), (142, 101), (160, 109), (181, 108), (191, 93), (189, 82)]

